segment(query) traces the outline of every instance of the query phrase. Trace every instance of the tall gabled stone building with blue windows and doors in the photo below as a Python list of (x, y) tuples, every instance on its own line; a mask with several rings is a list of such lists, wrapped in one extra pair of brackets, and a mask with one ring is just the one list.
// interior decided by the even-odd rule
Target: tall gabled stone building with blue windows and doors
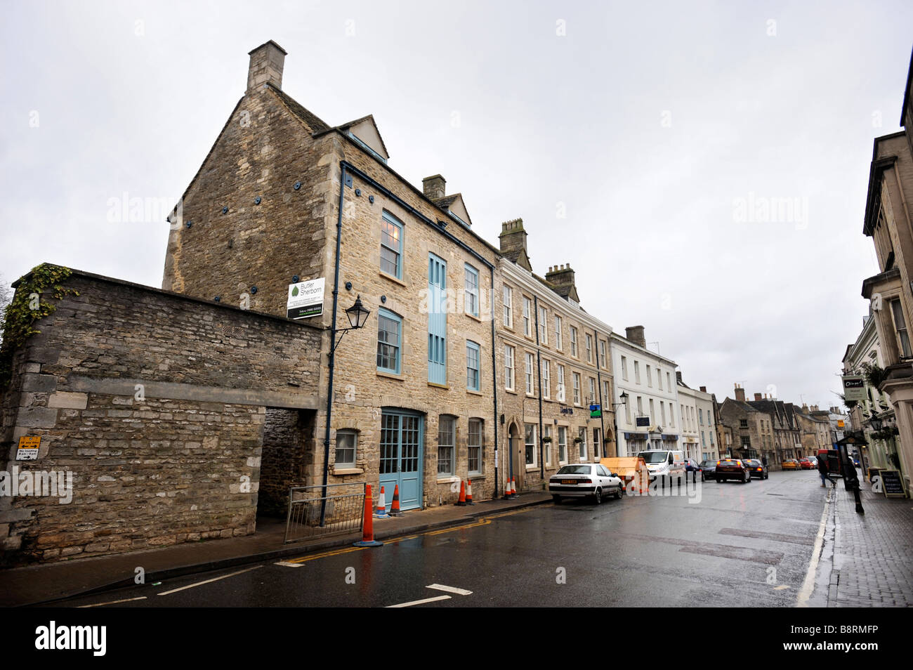
[[(282, 90), (285, 52), (250, 52), (247, 91), (173, 212), (163, 287), (286, 315), (289, 288), (325, 280), (322, 378), (305, 482), (400, 489), (404, 509), (495, 490), (498, 249), (441, 175), (395, 173), (372, 116), (331, 125)], [(179, 219), (179, 220), (178, 220)], [(367, 327), (332, 351), (360, 298)], [(321, 393), (324, 388), (321, 386)], [(265, 438), (267, 439), (267, 438)], [(322, 447), (322, 448), (320, 448)]]

